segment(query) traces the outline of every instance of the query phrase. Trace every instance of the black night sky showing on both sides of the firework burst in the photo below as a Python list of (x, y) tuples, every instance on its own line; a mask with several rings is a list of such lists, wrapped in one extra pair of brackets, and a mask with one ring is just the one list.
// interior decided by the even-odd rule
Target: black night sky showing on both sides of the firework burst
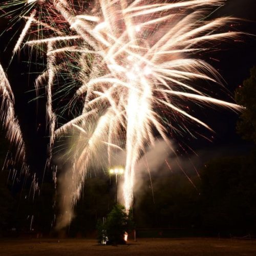
[[(229, 0), (226, 6), (213, 14), (213, 16), (221, 15), (246, 19), (241, 20), (240, 24), (233, 29), (256, 35), (256, 0)], [(0, 31), (2, 32), (6, 27), (7, 20), (0, 18)], [(11, 36), (18, 29), (22, 29), (22, 26), (17, 26), (0, 37), (0, 62), (4, 68), (8, 66), (15, 42), (11, 41)], [(227, 89), (233, 95), (234, 89), (249, 76), (250, 68), (256, 65), (256, 37), (245, 35), (242, 41), (230, 41), (228, 44), (221, 44), (220, 47), (222, 51), (208, 54), (206, 60), (221, 73), (226, 81)], [(214, 59), (218, 59), (218, 61)], [(22, 52), (19, 56), (14, 57), (7, 74), (15, 94), (15, 108), (27, 144), (29, 163), (37, 172), (41, 172), (45, 164), (48, 142), (45, 127), (45, 100), (40, 99), (38, 104), (36, 102), (29, 103), (35, 97), (34, 92), (29, 92), (33, 90), (34, 77), (27, 74), (28, 65), (23, 61), (27, 61), (27, 56)], [(225, 99), (226, 96), (223, 94), (221, 97)], [(226, 99), (230, 100), (228, 97)], [(200, 129), (199, 132), (207, 137), (214, 136), (213, 141), (208, 142), (200, 136), (198, 139), (180, 138), (181, 141), (196, 151), (206, 147), (218, 150), (218, 148), (232, 146), (237, 147), (238, 151), (240, 148), (241, 151), (246, 148), (247, 143), (242, 141), (235, 131), (238, 115), (223, 109), (207, 109), (200, 113), (200, 117), (216, 131), (216, 134), (210, 134), (205, 129)]]

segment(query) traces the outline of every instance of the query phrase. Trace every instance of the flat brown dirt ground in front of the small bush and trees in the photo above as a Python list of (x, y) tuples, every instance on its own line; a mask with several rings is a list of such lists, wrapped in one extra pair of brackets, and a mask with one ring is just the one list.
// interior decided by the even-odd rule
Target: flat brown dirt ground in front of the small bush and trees
[(256, 241), (231, 239), (138, 239), (127, 245), (102, 246), (88, 239), (0, 240), (0, 255), (172, 255), (239, 256), (256, 255)]

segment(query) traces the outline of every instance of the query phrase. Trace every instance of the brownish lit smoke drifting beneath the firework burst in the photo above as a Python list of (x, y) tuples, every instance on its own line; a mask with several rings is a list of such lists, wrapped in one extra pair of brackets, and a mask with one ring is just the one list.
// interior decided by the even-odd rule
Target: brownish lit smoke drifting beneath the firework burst
[[(233, 155), (236, 152), (234, 147), (223, 147), (215, 150), (200, 150), (197, 155), (180, 156), (177, 154), (177, 146), (174, 141), (166, 143), (163, 139), (156, 139), (154, 146), (147, 147), (144, 154), (138, 161), (135, 168), (135, 184), (134, 194), (143, 193), (143, 184), (145, 175), (158, 177), (160, 175), (181, 172), (188, 182), (193, 186), (190, 180), (192, 176), (198, 176), (198, 169), (212, 158), (221, 156)], [(92, 159), (88, 169), (94, 172), (102, 172), (102, 169), (108, 171), (109, 168), (115, 166), (125, 166), (126, 152), (116, 150), (113, 152), (111, 159), (108, 159), (106, 147), (101, 147), (97, 152), (97, 158)], [(67, 157), (66, 157), (67, 158)], [(59, 159), (63, 159), (63, 156)], [(56, 229), (61, 229), (70, 224), (74, 218), (74, 202), (72, 194), (77, 190), (80, 184), (80, 179), (86, 177), (79, 173), (74, 174), (71, 168), (72, 158), (66, 161), (65, 164), (58, 163), (61, 173), (58, 175), (58, 196), (60, 214), (57, 217)], [(84, 187), (86, 189), (86, 185)], [(154, 187), (152, 188), (154, 189)], [(118, 178), (118, 202), (123, 204), (123, 177)], [(137, 202), (139, 203), (139, 202)]]

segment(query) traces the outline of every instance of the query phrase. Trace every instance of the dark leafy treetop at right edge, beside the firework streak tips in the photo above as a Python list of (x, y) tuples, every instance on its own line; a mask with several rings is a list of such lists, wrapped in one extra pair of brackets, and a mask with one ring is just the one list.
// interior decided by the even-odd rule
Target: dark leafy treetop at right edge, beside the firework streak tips
[(237, 131), (243, 139), (256, 144), (256, 66), (250, 70), (250, 77), (236, 90), (236, 101), (245, 106), (237, 123)]

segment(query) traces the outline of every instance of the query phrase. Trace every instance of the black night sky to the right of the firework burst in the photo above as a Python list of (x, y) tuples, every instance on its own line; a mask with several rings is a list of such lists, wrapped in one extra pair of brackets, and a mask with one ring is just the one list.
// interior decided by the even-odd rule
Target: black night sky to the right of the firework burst
[[(256, 35), (256, 1), (254, 0), (229, 0), (214, 16), (239, 17), (241, 22), (234, 30)], [(226, 81), (226, 88), (233, 95), (234, 90), (249, 77), (250, 68), (256, 65), (256, 37), (245, 35), (242, 42), (228, 42), (221, 46), (221, 51), (216, 53), (220, 61), (209, 61), (217, 68)], [(214, 58), (214, 56), (210, 56)], [(237, 144), (242, 146), (240, 137), (236, 135), (234, 126), (237, 115), (229, 111), (217, 111), (210, 115), (208, 123), (212, 123), (216, 131), (214, 144)]]

